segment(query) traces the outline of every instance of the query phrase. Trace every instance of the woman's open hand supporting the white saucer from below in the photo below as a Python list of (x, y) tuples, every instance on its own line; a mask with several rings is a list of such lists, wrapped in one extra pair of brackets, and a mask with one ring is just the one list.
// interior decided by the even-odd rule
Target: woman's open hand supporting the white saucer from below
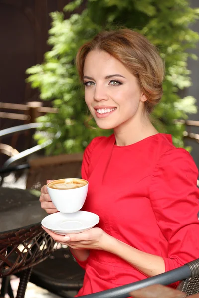
[[(42, 226), (43, 227), (43, 226)], [(73, 249), (100, 249), (106, 250), (108, 246), (108, 239), (111, 237), (106, 234), (101, 228), (93, 227), (92, 229), (78, 233), (67, 234), (65, 236), (55, 234), (49, 229), (43, 229), (56, 241), (67, 245)]]

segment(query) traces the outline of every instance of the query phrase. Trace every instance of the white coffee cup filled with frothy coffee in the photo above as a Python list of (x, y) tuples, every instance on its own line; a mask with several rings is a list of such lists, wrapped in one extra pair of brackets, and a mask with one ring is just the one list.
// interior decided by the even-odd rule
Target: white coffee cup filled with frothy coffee
[(49, 182), (47, 190), (58, 211), (72, 213), (77, 212), (84, 205), (88, 186), (87, 180), (66, 178)]

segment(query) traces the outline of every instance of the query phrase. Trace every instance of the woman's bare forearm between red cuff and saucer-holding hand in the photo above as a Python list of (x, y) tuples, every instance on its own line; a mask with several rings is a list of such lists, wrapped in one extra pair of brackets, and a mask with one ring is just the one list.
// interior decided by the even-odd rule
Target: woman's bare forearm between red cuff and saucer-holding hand
[(116, 238), (107, 236), (105, 250), (130, 263), (146, 276), (151, 277), (165, 272), (165, 263), (162, 257), (140, 251)]

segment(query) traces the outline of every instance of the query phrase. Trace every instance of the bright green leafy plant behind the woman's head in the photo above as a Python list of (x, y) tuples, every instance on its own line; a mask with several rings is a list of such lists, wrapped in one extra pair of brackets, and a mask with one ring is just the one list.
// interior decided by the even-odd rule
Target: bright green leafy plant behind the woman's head
[[(81, 0), (69, 3), (64, 10), (73, 12)], [(28, 82), (40, 90), (42, 100), (51, 100), (58, 108), (57, 114), (39, 117), (40, 122), (50, 122), (52, 127), (38, 131), (39, 143), (53, 138), (47, 154), (81, 152), (99, 135), (110, 131), (100, 130), (89, 114), (84, 102), (83, 87), (74, 65), (78, 48), (105, 27), (126, 26), (144, 34), (165, 60), (166, 76), (164, 95), (156, 106), (152, 120), (160, 132), (173, 135), (176, 146), (183, 147), (184, 126), (174, 119), (187, 119), (196, 113), (195, 99), (180, 98), (179, 90), (191, 85), (187, 52), (199, 40), (190, 25), (199, 17), (199, 9), (189, 7), (187, 0), (88, 0), (81, 14), (64, 19), (64, 13), (53, 12), (48, 43), (51, 50), (45, 54), (41, 65), (27, 70)]]

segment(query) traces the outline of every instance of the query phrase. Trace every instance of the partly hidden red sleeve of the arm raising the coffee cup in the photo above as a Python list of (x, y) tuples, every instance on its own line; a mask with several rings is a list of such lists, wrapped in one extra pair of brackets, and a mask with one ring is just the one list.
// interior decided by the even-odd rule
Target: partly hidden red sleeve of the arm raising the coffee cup
[[(100, 141), (101, 138), (103, 138), (103, 137), (94, 138), (84, 151), (83, 160), (82, 160), (82, 168), (81, 168), (82, 179), (88, 180), (88, 178), (89, 178), (88, 172), (89, 172), (91, 154), (92, 154), (93, 149), (98, 144), (98, 142)], [(71, 253), (72, 253), (72, 251), (71, 251)], [(72, 253), (72, 255), (73, 255), (73, 253)], [(75, 258), (76, 262), (85, 270), (86, 265), (87, 265), (87, 260), (80, 261), (74, 255), (73, 255), (73, 257)]]

